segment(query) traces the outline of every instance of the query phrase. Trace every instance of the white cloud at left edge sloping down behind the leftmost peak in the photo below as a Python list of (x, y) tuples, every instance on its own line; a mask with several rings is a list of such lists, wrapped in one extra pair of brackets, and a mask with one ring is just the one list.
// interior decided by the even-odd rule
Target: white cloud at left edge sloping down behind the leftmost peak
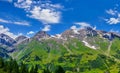
[(15, 39), (17, 37), (17, 35), (14, 35), (13, 33), (10, 32), (10, 30), (8, 28), (5, 28), (4, 26), (0, 25), (0, 34), (6, 34), (8, 36), (10, 36), (11, 38)]

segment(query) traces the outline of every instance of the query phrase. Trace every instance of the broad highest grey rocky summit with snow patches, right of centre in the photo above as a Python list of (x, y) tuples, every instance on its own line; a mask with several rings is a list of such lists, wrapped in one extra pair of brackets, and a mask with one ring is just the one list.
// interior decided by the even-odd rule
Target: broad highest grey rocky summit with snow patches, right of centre
[(70, 29), (62, 33), (63, 38), (75, 37), (80, 40), (83, 40), (86, 36), (90, 37), (90, 36), (97, 36), (97, 35), (98, 35), (97, 31), (93, 30), (91, 27), (86, 27), (80, 30)]

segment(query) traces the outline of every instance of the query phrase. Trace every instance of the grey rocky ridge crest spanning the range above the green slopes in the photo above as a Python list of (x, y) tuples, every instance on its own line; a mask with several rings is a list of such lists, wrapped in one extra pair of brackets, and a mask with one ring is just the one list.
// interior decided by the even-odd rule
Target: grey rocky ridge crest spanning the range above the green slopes
[(85, 27), (84, 29), (80, 30), (69, 29), (61, 34), (57, 34), (54, 36), (47, 34), (45, 31), (39, 31), (38, 33), (36, 33), (35, 36), (31, 38), (27, 38), (26, 36), (18, 36), (16, 39), (12, 39), (8, 35), (2, 33), (0, 34), (0, 45), (4, 45), (6, 47), (13, 47), (15, 44), (28, 43), (31, 39), (36, 39), (40, 41), (41, 39), (51, 38), (63, 41), (69, 40), (70, 38), (78, 38), (80, 41), (85, 41), (87, 37), (94, 36), (99, 36), (101, 38), (108, 39), (109, 41), (112, 41), (115, 37), (120, 38), (120, 34), (117, 34), (115, 32), (99, 31), (94, 30), (91, 27)]

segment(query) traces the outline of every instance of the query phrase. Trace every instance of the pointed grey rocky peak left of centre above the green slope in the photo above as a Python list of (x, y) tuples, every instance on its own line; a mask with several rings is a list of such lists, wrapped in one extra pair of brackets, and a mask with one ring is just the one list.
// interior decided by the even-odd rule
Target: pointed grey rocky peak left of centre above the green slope
[(36, 40), (46, 39), (49, 38), (50, 35), (47, 34), (45, 31), (39, 31), (33, 38)]

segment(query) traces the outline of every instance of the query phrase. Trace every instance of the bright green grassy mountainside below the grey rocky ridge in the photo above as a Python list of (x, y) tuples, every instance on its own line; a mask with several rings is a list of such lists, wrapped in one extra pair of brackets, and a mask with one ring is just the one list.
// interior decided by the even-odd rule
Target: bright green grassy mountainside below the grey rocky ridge
[[(19, 61), (23, 60), (29, 65), (39, 64), (40, 69), (44, 69), (46, 65), (49, 65), (52, 71), (54, 71), (54, 65), (61, 65), (68, 73), (117, 73), (119, 63), (114, 61), (114, 58), (118, 58), (114, 55), (116, 55), (116, 50), (120, 49), (120, 40), (116, 38), (113, 41), (110, 51), (112, 58), (104, 54), (109, 42), (100, 38), (94, 39), (95, 43), (100, 46), (99, 50), (88, 48), (77, 39), (70, 39), (64, 42), (65, 45), (55, 40), (41, 42), (33, 40), (28, 45), (20, 45), (14, 56), (17, 56)], [(20, 51), (21, 47), (23, 49)]]

